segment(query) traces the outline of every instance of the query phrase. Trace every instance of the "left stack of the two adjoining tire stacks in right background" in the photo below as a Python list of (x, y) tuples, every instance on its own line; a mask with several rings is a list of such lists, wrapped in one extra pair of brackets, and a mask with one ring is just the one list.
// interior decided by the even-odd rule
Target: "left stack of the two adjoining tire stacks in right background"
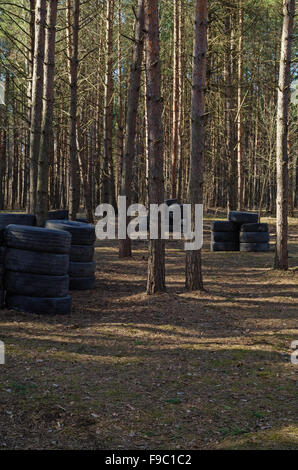
[(238, 226), (228, 221), (212, 222), (211, 251), (239, 251)]

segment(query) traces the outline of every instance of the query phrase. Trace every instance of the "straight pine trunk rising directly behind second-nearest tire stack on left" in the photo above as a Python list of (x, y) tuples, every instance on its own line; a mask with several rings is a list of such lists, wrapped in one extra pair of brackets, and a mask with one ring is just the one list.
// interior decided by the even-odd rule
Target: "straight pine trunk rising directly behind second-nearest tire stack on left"
[[(73, 1), (73, 5), (72, 5)], [(70, 86), (70, 180), (69, 180), (69, 213), (72, 220), (76, 219), (80, 205), (80, 169), (77, 148), (77, 102), (78, 102), (78, 48), (80, 0), (67, 0), (67, 42), (69, 60)]]

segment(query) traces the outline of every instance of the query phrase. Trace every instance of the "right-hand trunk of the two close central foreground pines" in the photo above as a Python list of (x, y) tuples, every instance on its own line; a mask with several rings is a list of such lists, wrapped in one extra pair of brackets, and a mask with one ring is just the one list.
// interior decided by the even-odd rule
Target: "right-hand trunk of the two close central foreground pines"
[[(192, 205), (193, 212), (195, 204), (203, 204), (207, 15), (207, 0), (196, 0), (192, 73), (192, 141), (188, 186), (188, 202)], [(194, 223), (192, 225), (194, 231)], [(185, 274), (187, 289), (203, 289), (201, 250), (189, 250), (186, 252)]]

